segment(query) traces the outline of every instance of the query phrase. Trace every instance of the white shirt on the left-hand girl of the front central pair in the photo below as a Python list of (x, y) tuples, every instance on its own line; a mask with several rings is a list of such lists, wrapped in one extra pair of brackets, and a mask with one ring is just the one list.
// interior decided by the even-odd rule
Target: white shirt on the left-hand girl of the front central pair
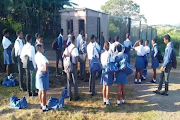
[[(109, 59), (109, 61), (108, 61), (108, 59)], [(101, 54), (101, 64), (104, 66), (104, 65), (107, 65), (108, 62), (112, 62), (112, 56), (110, 55), (109, 51), (105, 50)]]

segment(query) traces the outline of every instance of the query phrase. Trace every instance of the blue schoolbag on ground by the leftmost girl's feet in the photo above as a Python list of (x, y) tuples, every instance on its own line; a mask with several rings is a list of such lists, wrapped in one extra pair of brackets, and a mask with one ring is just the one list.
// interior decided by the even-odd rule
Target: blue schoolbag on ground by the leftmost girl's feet
[(18, 83), (15, 78), (13, 79), (5, 78), (2, 82), (2, 85), (6, 87), (15, 87), (15, 86), (18, 86)]

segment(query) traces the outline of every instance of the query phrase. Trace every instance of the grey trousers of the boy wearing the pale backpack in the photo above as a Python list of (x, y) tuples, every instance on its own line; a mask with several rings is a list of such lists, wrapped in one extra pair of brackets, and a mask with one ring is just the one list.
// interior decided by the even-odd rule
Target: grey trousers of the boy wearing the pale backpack
[(67, 73), (67, 89), (68, 96), (72, 98), (71, 86), (74, 86), (74, 96), (78, 97), (78, 87), (77, 87), (77, 70), (76, 65), (73, 65), (73, 72)]

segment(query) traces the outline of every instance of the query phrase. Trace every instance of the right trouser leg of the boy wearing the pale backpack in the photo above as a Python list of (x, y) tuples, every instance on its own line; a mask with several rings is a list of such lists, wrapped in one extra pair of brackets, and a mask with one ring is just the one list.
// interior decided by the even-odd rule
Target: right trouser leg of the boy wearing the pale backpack
[(74, 84), (74, 96), (77, 98), (78, 97), (78, 86), (77, 86), (76, 65), (74, 65), (74, 67), (73, 67), (72, 80), (73, 80), (73, 84)]

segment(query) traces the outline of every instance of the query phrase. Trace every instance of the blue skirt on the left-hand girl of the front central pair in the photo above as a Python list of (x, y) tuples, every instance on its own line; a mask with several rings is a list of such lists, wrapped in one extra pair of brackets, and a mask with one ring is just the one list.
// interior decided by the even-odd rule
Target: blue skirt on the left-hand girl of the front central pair
[(113, 73), (102, 73), (101, 84), (111, 86), (113, 84), (114, 74)]

